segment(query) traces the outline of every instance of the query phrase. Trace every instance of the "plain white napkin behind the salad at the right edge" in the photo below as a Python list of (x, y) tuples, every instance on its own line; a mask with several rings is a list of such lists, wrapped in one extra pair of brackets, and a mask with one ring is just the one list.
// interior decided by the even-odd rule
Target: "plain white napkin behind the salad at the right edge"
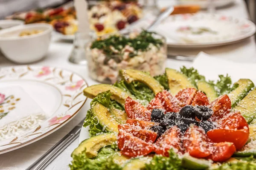
[(232, 62), (200, 52), (192, 66), (198, 70), (199, 74), (210, 80), (217, 80), (219, 74), (228, 74), (233, 82), (243, 78), (251, 79), (256, 84), (256, 63)]

